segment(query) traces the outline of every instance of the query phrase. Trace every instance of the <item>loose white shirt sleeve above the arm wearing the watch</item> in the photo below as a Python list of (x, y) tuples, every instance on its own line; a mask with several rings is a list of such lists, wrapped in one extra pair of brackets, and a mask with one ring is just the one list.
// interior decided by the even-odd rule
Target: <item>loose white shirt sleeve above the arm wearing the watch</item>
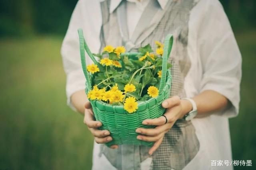
[(241, 54), (222, 5), (218, 0), (207, 3), (198, 40), (203, 69), (200, 89), (225, 96), (232, 106), (224, 116), (234, 117), (240, 102)]

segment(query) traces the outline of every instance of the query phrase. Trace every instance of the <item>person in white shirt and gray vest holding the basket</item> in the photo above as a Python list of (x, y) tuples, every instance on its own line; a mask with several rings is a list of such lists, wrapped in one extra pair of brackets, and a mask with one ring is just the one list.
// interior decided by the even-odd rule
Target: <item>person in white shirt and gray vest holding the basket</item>
[[(112, 137), (97, 129), (102, 123), (84, 92), (78, 28), (94, 53), (106, 45), (156, 47), (154, 41), (174, 35), (165, 117), (143, 121), (154, 129), (136, 129), (137, 139), (154, 141), (153, 147), (104, 145)], [(218, 0), (78, 0), (61, 53), (68, 105), (84, 115), (94, 136), (93, 170), (233, 169), (228, 118), (238, 115), (242, 59)], [(92, 63), (88, 56), (86, 62)]]

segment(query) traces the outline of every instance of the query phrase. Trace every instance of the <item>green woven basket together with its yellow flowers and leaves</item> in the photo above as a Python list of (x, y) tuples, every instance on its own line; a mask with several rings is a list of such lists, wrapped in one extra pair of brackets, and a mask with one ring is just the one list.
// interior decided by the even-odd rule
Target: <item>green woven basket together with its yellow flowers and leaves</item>
[[(78, 29), (82, 68), (86, 77), (86, 94), (92, 104), (96, 120), (102, 122), (100, 129), (110, 131), (113, 140), (107, 146), (134, 144), (148, 145), (152, 142), (136, 139), (138, 127), (145, 119), (163, 115), (161, 103), (168, 98), (171, 73), (167, 59), (173, 37), (168, 35), (164, 45), (156, 41), (154, 52), (148, 44), (138, 52), (126, 53), (123, 46), (107, 45), (102, 53), (92, 54), (86, 45), (82, 29)], [(86, 66), (85, 53), (94, 64)], [(94, 58), (98, 57), (99, 62)]]

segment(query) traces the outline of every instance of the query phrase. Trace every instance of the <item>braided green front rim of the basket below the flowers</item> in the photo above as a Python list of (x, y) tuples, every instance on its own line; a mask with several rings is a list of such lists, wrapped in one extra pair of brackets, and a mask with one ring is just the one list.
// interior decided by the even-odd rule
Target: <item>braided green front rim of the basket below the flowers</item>
[[(172, 79), (172, 75), (171, 75), (170, 70), (167, 70), (166, 74), (167, 74), (166, 82), (168, 82)], [(148, 107), (155, 105), (158, 102), (161, 102), (163, 100), (164, 96), (166, 95), (166, 89), (169, 88), (168, 86), (171, 86), (171, 84), (165, 84), (164, 90), (156, 98), (150, 98), (149, 100), (146, 100), (146, 101), (139, 101), (138, 102), (138, 110), (133, 112), (133, 113), (128, 113), (126, 110), (124, 110), (123, 105), (122, 106), (121, 105), (120, 106), (119, 105), (111, 105), (111, 104), (107, 104), (105, 102), (102, 102), (100, 100), (89, 100), (89, 101), (93, 106), (96, 106), (98, 108), (103, 107), (104, 110), (106, 110), (107, 112), (109, 110), (109, 112), (127, 113), (129, 115), (132, 115), (132, 114), (138, 113), (140, 111), (143, 111), (143, 110), (147, 109)]]

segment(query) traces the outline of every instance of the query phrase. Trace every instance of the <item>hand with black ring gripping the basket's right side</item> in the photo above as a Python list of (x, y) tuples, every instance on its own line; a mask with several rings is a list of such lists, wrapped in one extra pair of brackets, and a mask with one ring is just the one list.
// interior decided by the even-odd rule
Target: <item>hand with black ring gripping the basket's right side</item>
[(192, 104), (187, 100), (180, 100), (178, 96), (173, 96), (164, 100), (164, 102), (162, 102), (162, 107), (166, 108), (166, 113), (164, 113), (164, 115), (168, 120), (167, 123), (165, 117), (161, 116), (156, 119), (146, 119), (142, 122), (143, 125), (156, 125), (154, 129), (136, 129), (137, 133), (142, 134), (138, 135), (137, 139), (155, 142), (153, 147), (148, 151), (148, 154), (150, 155), (158, 149), (165, 133), (172, 128), (176, 120), (182, 118), (186, 113), (192, 110)]

